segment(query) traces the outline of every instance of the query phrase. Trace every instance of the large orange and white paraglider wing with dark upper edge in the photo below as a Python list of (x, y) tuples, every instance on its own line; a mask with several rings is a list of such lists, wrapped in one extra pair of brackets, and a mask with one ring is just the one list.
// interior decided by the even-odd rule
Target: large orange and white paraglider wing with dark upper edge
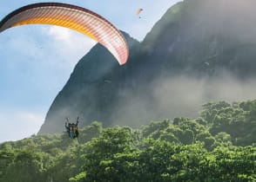
[(5, 16), (0, 32), (24, 24), (52, 24), (77, 30), (108, 49), (119, 64), (125, 64), (129, 49), (125, 37), (103, 16), (66, 3), (34, 3)]

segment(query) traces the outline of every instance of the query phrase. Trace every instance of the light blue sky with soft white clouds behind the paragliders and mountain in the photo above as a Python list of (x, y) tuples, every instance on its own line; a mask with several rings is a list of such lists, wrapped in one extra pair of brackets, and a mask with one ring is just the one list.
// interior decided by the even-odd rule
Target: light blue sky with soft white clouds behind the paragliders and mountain
[[(49, 2), (49, 1), (44, 1)], [(104, 16), (142, 41), (152, 26), (179, 0), (63, 0)], [(37, 0), (0, 1), (0, 19)], [(141, 18), (136, 16), (142, 8)], [(36, 134), (73, 68), (95, 44), (71, 29), (24, 25), (0, 33), (0, 143)], [(79, 47), (77, 47), (79, 45)], [(60, 126), (63, 127), (63, 126)]]

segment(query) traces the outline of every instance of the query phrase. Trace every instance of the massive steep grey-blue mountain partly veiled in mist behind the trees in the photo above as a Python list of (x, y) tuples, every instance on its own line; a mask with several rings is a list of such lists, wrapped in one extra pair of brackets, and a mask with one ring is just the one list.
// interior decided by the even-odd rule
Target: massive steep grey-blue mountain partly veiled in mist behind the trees
[(185, 0), (138, 42), (125, 32), (130, 57), (119, 66), (100, 45), (77, 63), (39, 133), (61, 132), (64, 118), (88, 125), (146, 124), (195, 116), (206, 101), (255, 96), (256, 2)]

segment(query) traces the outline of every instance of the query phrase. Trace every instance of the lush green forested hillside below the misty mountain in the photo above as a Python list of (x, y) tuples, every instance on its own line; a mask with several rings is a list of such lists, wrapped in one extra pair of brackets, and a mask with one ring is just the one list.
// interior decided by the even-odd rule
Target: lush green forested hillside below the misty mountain
[[(60, 126), (63, 127), (63, 126)], [(0, 181), (255, 181), (256, 100), (207, 103), (197, 118), (80, 128), (0, 145)]]

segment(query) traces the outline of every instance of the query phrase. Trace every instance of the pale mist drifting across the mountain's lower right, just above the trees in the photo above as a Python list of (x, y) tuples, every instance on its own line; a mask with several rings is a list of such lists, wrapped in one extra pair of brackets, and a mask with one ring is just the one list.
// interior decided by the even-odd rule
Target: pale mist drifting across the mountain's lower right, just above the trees
[(147, 92), (131, 94), (112, 114), (113, 125), (140, 127), (152, 120), (196, 118), (207, 102), (252, 101), (256, 79), (241, 80), (228, 71), (213, 77), (178, 75), (153, 81)]

